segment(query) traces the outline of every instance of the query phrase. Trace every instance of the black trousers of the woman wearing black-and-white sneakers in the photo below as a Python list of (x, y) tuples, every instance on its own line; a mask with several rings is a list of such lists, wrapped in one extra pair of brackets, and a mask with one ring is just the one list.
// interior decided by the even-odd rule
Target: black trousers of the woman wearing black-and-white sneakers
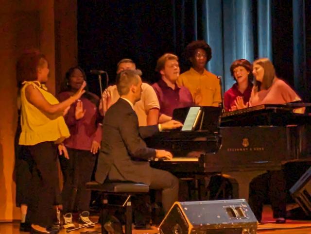
[(89, 150), (67, 148), (69, 159), (59, 157), (64, 175), (63, 212), (88, 211), (91, 192), (86, 190), (95, 166), (96, 155)]

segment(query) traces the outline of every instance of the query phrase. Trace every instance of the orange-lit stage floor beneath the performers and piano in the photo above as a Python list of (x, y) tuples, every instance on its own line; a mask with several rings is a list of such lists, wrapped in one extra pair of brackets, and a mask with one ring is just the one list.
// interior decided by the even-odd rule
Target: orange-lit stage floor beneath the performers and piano
[[(98, 217), (90, 217), (92, 221), (97, 221)], [(80, 234), (87, 231), (99, 231), (101, 226), (97, 224), (95, 228), (80, 229), (70, 232), (70, 234)], [(153, 226), (150, 230), (135, 230), (133, 234), (156, 234), (157, 227)], [(258, 226), (258, 234), (311, 234), (311, 220), (286, 220), (285, 224), (276, 224), (272, 217), (270, 206), (265, 206), (263, 211), (263, 224)], [(19, 232), (19, 223), (1, 223), (0, 234), (26, 234)], [(60, 234), (66, 234), (66, 230), (62, 230)]]

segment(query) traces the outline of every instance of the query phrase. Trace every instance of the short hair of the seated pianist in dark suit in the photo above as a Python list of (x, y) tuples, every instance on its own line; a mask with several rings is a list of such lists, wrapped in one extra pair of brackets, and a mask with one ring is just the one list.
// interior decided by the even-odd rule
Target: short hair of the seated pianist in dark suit
[(117, 90), (120, 96), (126, 95), (130, 91), (132, 84), (137, 85), (139, 77), (142, 75), (141, 70), (124, 70), (117, 75)]

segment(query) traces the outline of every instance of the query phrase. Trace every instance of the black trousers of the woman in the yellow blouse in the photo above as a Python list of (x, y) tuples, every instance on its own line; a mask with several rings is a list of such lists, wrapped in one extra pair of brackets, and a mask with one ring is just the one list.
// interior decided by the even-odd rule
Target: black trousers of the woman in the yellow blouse
[(53, 142), (42, 142), (25, 146), (31, 181), (28, 188), (30, 198), (27, 215), (29, 222), (49, 227), (55, 218), (55, 199), (59, 194), (57, 172), (57, 149)]

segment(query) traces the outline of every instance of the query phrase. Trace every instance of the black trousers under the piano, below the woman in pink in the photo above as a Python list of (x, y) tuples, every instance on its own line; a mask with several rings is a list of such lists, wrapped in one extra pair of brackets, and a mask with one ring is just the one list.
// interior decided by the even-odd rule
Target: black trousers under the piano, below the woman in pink
[(261, 221), (262, 206), (270, 200), (273, 217), (286, 216), (286, 181), (282, 170), (268, 171), (257, 176), (249, 185), (249, 205)]

